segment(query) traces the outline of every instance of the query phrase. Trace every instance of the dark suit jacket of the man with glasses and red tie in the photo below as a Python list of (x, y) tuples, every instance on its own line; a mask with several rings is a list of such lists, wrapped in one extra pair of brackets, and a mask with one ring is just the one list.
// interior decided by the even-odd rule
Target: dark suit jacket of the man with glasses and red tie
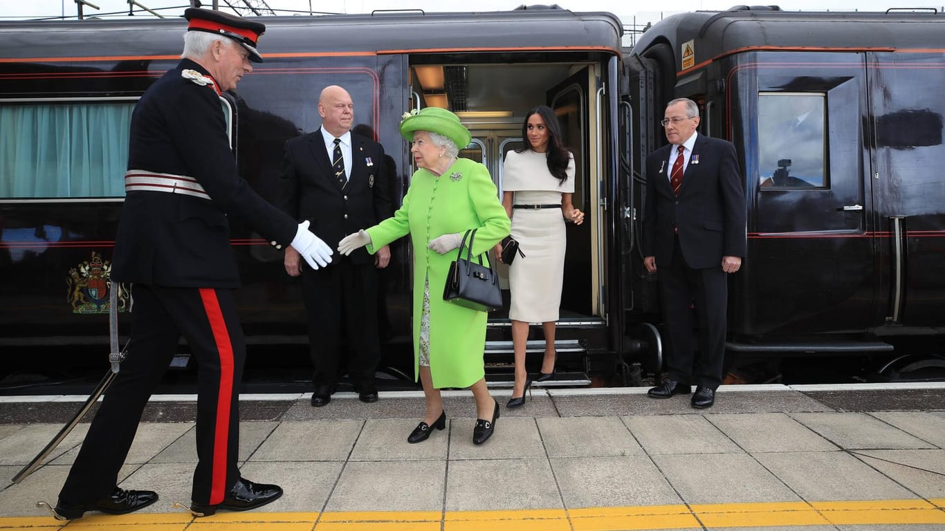
[(644, 256), (656, 256), (657, 267), (669, 264), (679, 228), (679, 247), (692, 268), (720, 266), (723, 256), (744, 257), (746, 204), (735, 146), (696, 136), (679, 197), (666, 176), (672, 148), (662, 146), (646, 157)]

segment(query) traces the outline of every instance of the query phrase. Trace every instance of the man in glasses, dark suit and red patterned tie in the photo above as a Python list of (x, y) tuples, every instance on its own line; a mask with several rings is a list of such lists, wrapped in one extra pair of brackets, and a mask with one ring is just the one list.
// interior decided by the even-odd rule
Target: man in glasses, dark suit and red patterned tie
[(669, 102), (662, 125), (670, 144), (646, 157), (644, 266), (660, 269), (669, 374), (648, 394), (658, 399), (689, 394), (695, 383), (692, 405), (705, 408), (715, 402), (722, 382), (726, 275), (738, 271), (746, 253), (745, 193), (735, 147), (696, 133), (696, 102)]

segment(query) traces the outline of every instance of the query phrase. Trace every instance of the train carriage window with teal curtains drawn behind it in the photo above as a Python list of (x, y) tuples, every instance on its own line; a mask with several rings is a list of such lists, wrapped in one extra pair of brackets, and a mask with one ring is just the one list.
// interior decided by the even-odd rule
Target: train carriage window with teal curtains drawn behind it
[(134, 102), (0, 104), (0, 198), (124, 197)]

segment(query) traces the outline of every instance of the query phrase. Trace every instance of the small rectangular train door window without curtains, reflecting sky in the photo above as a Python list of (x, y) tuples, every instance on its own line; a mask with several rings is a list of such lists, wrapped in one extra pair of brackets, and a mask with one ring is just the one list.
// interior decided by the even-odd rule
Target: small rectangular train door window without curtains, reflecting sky
[(826, 188), (826, 95), (761, 93), (758, 97), (762, 189)]

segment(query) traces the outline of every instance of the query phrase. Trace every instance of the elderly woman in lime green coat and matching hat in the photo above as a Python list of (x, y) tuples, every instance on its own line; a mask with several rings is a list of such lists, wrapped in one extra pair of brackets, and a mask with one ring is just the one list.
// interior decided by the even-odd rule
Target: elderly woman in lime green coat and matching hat
[(472, 442), (488, 439), (499, 418), (499, 404), (486, 386), (483, 351), (486, 313), (446, 302), (442, 295), (450, 264), (459, 253), (463, 233), (477, 229), (472, 254), (479, 255), (506, 237), (511, 226), (486, 166), (458, 159), (472, 135), (450, 111), (428, 107), (405, 114), (401, 135), (413, 142), (410, 152), (418, 170), (404, 204), (381, 223), (350, 234), (338, 243), (349, 254), (369, 252), (410, 234), (414, 249), (414, 368), (426, 397), (426, 415), (407, 437), (421, 442), (431, 428), (446, 427), (439, 389), (470, 387), (477, 417)]

